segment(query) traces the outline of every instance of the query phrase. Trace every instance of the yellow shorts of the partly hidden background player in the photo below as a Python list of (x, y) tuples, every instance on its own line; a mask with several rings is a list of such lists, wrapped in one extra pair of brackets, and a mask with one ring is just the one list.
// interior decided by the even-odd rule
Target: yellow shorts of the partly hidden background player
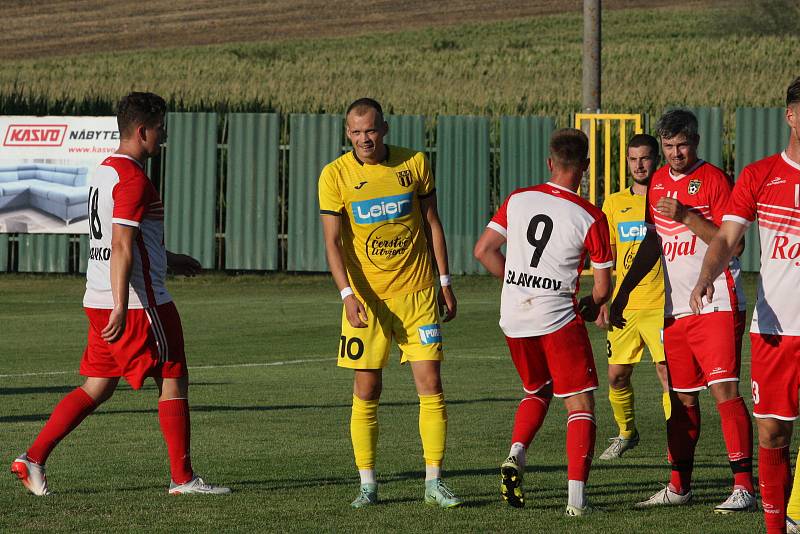
[(614, 328), (608, 333), (606, 349), (608, 363), (632, 365), (639, 363), (644, 354), (644, 346), (650, 350), (653, 363), (661, 363), (664, 358), (664, 310), (627, 310), (622, 316), (627, 323), (625, 328)]

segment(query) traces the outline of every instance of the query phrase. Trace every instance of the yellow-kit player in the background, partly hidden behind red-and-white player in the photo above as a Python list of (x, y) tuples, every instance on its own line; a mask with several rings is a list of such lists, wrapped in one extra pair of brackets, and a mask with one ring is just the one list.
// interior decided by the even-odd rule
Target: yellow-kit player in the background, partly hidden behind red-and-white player
[[(608, 218), (611, 250), (614, 254), (617, 282), (622, 281), (639, 250), (647, 228), (644, 223), (647, 186), (658, 168), (658, 141), (646, 134), (633, 136), (628, 143), (628, 169), (633, 184), (628, 189), (608, 195), (603, 202), (603, 212)], [(619, 290), (619, 283), (614, 295)], [(607, 309), (603, 309), (597, 325), (609, 328)], [(639, 432), (634, 419), (633, 367), (642, 359), (645, 345), (650, 351), (656, 374), (664, 390), (664, 414), (669, 418), (669, 390), (667, 365), (664, 357), (662, 332), (664, 328), (664, 278), (661, 261), (631, 293), (625, 311), (627, 324), (622, 329), (608, 332), (608, 400), (619, 435), (611, 438), (611, 445), (600, 455), (601, 460), (620, 458), (625, 451), (639, 443)]]

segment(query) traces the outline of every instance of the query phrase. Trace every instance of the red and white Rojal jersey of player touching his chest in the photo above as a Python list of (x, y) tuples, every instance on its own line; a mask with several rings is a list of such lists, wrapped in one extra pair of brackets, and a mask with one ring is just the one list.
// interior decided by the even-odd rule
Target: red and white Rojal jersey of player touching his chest
[[(661, 259), (664, 267), (664, 316), (675, 317), (692, 313), (689, 296), (692, 294), (703, 257), (708, 245), (697, 237), (685, 224), (673, 221), (656, 211), (662, 197), (670, 197), (719, 226), (728, 205), (731, 182), (722, 169), (698, 161), (686, 173), (673, 175), (669, 165), (658, 169), (647, 190), (647, 212), (645, 221), (649, 228), (655, 227), (661, 240)], [(744, 301), (741, 288), (730, 268), (714, 280), (714, 302), (705, 306), (702, 313), (733, 311)]]

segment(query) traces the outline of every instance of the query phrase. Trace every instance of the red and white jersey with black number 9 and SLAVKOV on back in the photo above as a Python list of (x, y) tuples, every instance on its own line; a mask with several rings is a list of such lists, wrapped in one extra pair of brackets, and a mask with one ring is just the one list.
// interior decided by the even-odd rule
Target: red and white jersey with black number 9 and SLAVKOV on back
[(613, 265), (606, 216), (554, 183), (517, 189), (488, 227), (506, 238), (500, 328), (508, 337), (549, 334), (575, 318), (587, 254), (595, 268)]

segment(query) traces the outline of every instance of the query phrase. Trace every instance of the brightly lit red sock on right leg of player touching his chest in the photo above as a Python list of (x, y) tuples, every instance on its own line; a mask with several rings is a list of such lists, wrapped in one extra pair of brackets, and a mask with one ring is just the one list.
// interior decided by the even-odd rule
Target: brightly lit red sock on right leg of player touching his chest
[(753, 427), (750, 414), (741, 397), (717, 404), (722, 421), (722, 435), (733, 471), (733, 484), (755, 494), (753, 490)]

